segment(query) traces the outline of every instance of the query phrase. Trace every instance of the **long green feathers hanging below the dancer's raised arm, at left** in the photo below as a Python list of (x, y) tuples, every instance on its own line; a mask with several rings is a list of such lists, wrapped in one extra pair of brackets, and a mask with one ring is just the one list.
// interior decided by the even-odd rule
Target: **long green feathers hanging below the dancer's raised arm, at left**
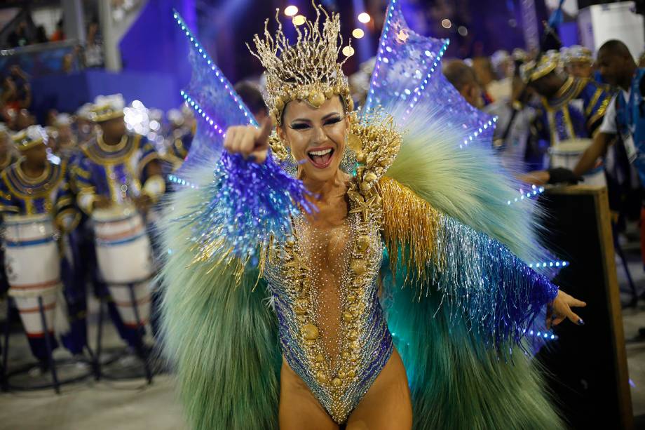
[[(196, 260), (189, 222), (208, 203), (212, 167), (186, 173), (161, 224), (162, 339), (191, 429), (277, 429), (282, 356), (266, 283), (239, 260)], [(214, 250), (226, 255), (225, 250)], [(244, 269), (241, 272), (240, 270)]]

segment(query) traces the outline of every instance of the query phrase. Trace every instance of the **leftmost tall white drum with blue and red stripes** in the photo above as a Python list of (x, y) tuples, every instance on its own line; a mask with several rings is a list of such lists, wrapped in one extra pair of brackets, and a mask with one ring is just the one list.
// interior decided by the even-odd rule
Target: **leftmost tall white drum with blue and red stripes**
[(4, 220), (5, 268), (9, 295), (13, 296), (29, 337), (45, 334), (39, 297), (48, 331), (54, 330), (60, 281), (57, 234), (49, 215), (8, 216)]

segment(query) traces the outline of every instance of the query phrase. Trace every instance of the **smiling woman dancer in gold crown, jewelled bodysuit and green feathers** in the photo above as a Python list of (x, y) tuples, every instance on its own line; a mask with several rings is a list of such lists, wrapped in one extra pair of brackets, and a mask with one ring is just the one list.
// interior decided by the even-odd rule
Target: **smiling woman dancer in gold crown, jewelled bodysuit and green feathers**
[(273, 122), (228, 128), (170, 202), (163, 324), (191, 426), (561, 426), (523, 335), (545, 306), (582, 324), (583, 302), (520, 259), (541, 250), (487, 149), (421, 108), (358, 118), (325, 18), (256, 38)]

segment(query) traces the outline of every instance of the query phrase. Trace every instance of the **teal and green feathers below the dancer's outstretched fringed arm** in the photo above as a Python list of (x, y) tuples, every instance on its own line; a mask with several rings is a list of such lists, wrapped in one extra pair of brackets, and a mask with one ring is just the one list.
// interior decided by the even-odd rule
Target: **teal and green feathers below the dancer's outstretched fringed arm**
[(499, 359), (441, 294), (402, 288), (402, 273), (383, 265), (383, 305), (407, 370), (414, 430), (564, 429), (537, 363), (521, 349)]

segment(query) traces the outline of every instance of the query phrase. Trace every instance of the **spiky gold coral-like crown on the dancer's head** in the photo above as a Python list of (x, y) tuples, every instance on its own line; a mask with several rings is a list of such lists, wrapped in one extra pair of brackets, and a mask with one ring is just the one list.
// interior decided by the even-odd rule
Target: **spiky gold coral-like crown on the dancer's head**
[[(298, 39), (289, 45), (278, 20), (276, 36), (269, 32), (269, 20), (264, 22), (264, 40), (255, 35), (257, 53), (248, 46), (252, 55), (266, 69), (266, 105), (273, 123), (280, 125), (285, 105), (292, 100), (302, 100), (318, 108), (334, 95), (344, 99), (348, 111), (353, 110), (346, 76), (341, 69), (345, 60), (338, 62), (343, 44), (340, 17), (327, 14), (322, 6), (315, 8), (315, 21), (307, 20), (304, 28), (294, 25)], [(325, 15), (320, 29), (320, 16)], [(350, 48), (351, 50), (351, 48)]]

